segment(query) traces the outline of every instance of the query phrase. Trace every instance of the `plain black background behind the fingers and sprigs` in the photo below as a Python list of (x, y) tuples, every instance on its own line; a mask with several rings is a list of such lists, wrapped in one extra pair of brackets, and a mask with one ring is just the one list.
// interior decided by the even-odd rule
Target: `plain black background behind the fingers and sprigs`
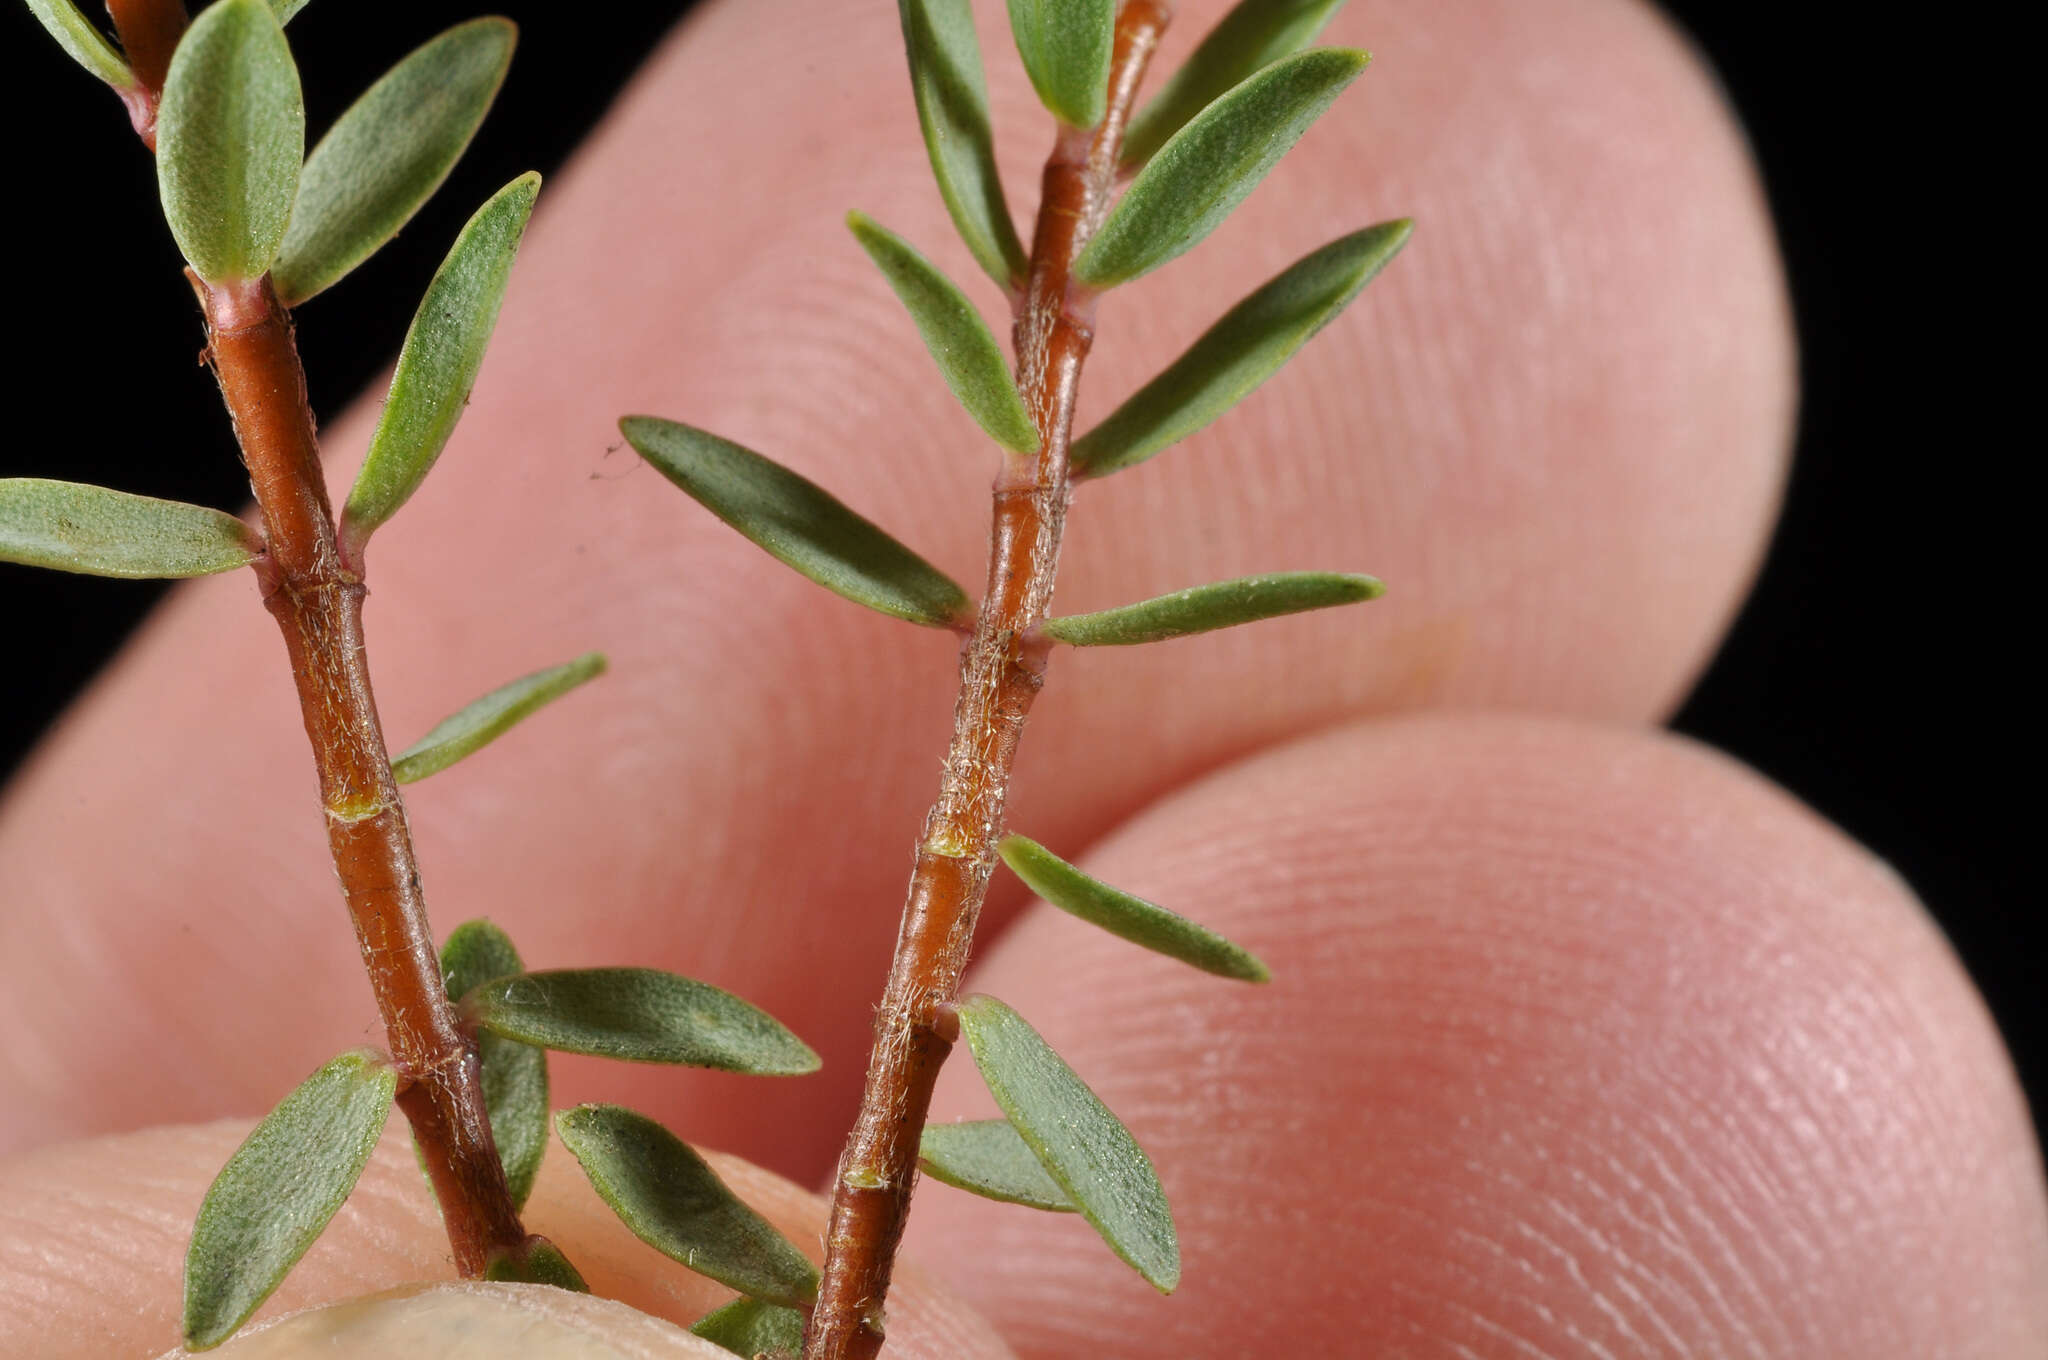
[[(477, 145), (416, 227), (322, 299), (322, 324), (303, 332), (322, 418), (395, 352), (412, 307), (389, 299), (418, 295), (467, 207), (520, 170), (553, 170), (688, 4), (606, 4), (602, 16), (555, 0), (498, 8), (524, 33)], [(2030, 926), (2042, 895), (2021, 881), (2042, 803), (2028, 703), (2038, 682), (2009, 643), (2038, 610), (2017, 586), (2021, 504), (2005, 485), (2007, 469), (2038, 461), (2040, 434), (2025, 436), (2036, 457), (2013, 457), (2003, 426), (2023, 375), (1980, 324), (2017, 309), (2003, 262), (2019, 252), (2003, 250), (2009, 217), (1997, 209), (2005, 176), (1982, 154), (1997, 119), (1976, 98), (1995, 80), (1958, 66), (1937, 37), (1909, 45), (1786, 0), (1667, 8), (1751, 131), (1804, 348), (1784, 522), (1755, 598), (1675, 725), (1790, 787), (1919, 889), (2040, 1110), (2048, 1006)], [(309, 125), (326, 127), (371, 72), (471, 10), (315, 0), (293, 20), (295, 45), (319, 51), (305, 72)], [(193, 369), (199, 332), (178, 260), (150, 221), (147, 160), (115, 100), (18, 4), (0, 4), (0, 115), (18, 233), (10, 330), (23, 346), (0, 475), (240, 506), (246, 479), (213, 383)], [(176, 434), (160, 442), (158, 430)], [(0, 770), (156, 594), (0, 565)]]

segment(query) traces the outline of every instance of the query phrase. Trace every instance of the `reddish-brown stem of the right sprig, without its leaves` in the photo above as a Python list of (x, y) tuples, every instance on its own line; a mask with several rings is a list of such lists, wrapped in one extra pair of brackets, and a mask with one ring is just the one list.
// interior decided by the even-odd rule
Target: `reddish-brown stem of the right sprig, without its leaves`
[(989, 584), (961, 655), (946, 772), (918, 842), (860, 1116), (840, 1157), (805, 1360), (870, 1360), (883, 1346), (883, 1303), (918, 1182), (918, 1141), (938, 1069), (958, 1036), (950, 1002), (995, 868), (1018, 737), (1044, 684), (1038, 627), (1053, 602), (1073, 399), (1094, 342), (1094, 295), (1073, 281), (1073, 258), (1108, 211), (1124, 123), (1169, 12), (1165, 0), (1124, 2), (1108, 115), (1094, 129), (1061, 127), (1044, 168), (1014, 324), (1018, 389), (1040, 447), (1008, 459), (995, 479)]

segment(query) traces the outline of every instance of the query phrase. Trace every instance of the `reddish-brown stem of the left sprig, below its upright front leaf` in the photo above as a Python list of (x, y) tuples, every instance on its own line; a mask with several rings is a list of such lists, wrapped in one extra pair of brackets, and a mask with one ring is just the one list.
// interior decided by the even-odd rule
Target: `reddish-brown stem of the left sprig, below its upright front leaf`
[(397, 1104), (434, 1182), (455, 1266), (481, 1276), (524, 1256), (526, 1231), (492, 1143), (475, 1040), (457, 1024), (420, 895), (362, 651), (362, 580), (336, 547), (291, 315), (268, 279), (209, 287), (207, 358), (262, 510), (264, 604), (285, 633), (313, 743), (328, 846), (356, 928), (401, 1088)]

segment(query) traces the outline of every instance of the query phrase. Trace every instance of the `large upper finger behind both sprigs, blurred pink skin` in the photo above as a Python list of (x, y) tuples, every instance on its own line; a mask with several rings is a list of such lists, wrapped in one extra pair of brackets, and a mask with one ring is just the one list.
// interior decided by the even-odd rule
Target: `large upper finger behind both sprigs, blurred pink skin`
[[(999, 6), (977, 8), (1022, 213), (1047, 121)], [(1190, 4), (1171, 51), (1221, 8)], [(1200, 264), (1104, 301), (1083, 424), (1307, 250), (1405, 213), (1415, 244), (1243, 410), (1083, 490), (1059, 606), (1290, 567), (1376, 571), (1393, 594), (1063, 653), (1012, 805), (1034, 836), (1087, 838), (1356, 713), (1657, 715), (1761, 545), (1784, 293), (1692, 55), (1624, 0), (1386, 0), (1329, 37), (1374, 68)], [(782, 1016), (819, 1077), (565, 1063), (561, 1090), (801, 1176), (854, 1106), (954, 643), (819, 592), (606, 451), (618, 414), (688, 418), (979, 588), (995, 459), (844, 240), (850, 205), (997, 315), (930, 184), (895, 6), (702, 12), (547, 188), (473, 406), (369, 551), (397, 746), (508, 676), (614, 662), (410, 791), (438, 930), (492, 916), (537, 965), (666, 965)], [(373, 412), (328, 432), (338, 485)], [(254, 1114), (377, 1038), (248, 580), (182, 592), (43, 748), (0, 809), (0, 899), (4, 1145)]]

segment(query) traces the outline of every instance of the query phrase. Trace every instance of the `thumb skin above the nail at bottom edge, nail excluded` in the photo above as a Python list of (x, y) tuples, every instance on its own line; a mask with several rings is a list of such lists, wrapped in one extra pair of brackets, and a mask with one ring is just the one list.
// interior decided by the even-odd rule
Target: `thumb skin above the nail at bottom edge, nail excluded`
[[(246, 1135), (236, 1120), (147, 1129), (0, 1163), (0, 1356), (109, 1360), (172, 1346), (193, 1219)], [(735, 1157), (707, 1157), (739, 1198), (821, 1260), (823, 1200)], [(733, 1299), (633, 1237), (559, 1141), (541, 1161), (526, 1223), (575, 1262), (592, 1292), (641, 1313), (688, 1325)], [(348, 1202), (256, 1319), (436, 1280), (455, 1280), (446, 1235), (393, 1118)], [(889, 1305), (891, 1346), (905, 1358), (1010, 1356), (915, 1266)], [(633, 1331), (612, 1331), (621, 1327)]]

